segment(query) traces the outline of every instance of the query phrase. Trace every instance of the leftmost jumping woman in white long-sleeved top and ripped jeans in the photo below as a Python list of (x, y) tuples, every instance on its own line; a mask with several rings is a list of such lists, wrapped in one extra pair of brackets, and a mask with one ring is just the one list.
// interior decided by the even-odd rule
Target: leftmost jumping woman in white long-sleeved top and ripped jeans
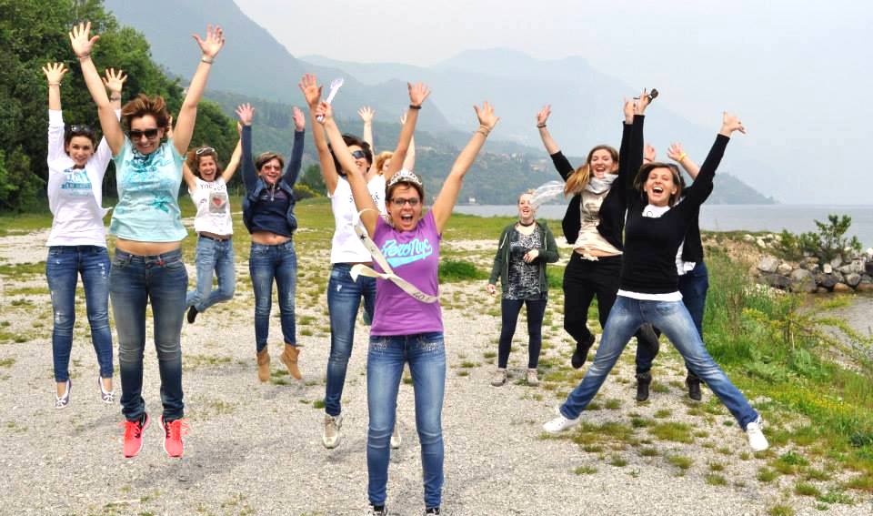
[[(109, 329), (109, 253), (103, 218), (103, 177), (112, 151), (101, 138), (97, 145), (90, 126), (65, 126), (61, 112), (62, 63), (43, 67), (48, 81), (48, 207), (52, 211), (45, 277), (52, 293), (55, 326), (52, 356), (55, 363), (55, 409), (70, 402), (70, 352), (75, 324), (75, 285), (82, 275), (91, 340), (100, 372), (97, 385), (104, 403), (115, 402), (112, 390), (112, 331)], [(115, 116), (121, 109), (121, 90), (127, 80), (121, 70), (109, 68), (103, 82), (110, 92)]]

